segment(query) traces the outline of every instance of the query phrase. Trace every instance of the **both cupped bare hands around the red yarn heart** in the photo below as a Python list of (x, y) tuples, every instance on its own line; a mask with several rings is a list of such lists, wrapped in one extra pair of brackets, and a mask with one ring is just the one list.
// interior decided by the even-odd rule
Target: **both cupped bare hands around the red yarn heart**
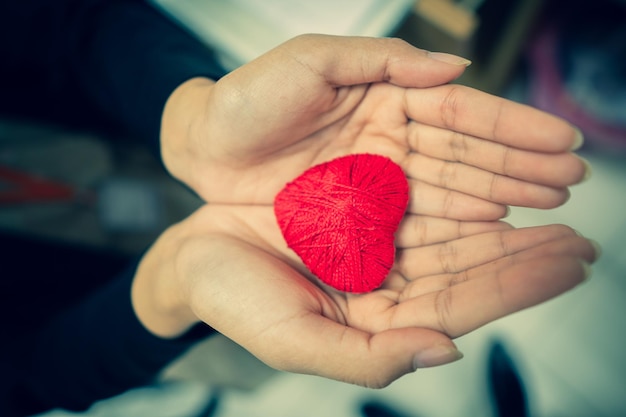
[[(588, 175), (565, 121), (450, 85), (467, 62), (394, 39), (307, 35), (166, 104), (162, 156), (207, 204), (146, 253), (132, 289), (160, 337), (205, 322), (278, 369), (383, 387), (461, 357), (452, 339), (582, 282), (594, 245), (566, 226), (513, 229)], [(383, 286), (345, 294), (284, 242), (272, 201), (312, 165), (392, 158), (410, 204)]]

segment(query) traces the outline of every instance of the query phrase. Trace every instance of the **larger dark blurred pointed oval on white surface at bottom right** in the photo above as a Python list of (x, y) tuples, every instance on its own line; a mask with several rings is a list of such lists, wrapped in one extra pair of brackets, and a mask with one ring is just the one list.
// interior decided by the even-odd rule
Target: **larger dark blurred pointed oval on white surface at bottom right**
[(528, 400), (521, 375), (501, 342), (489, 349), (488, 388), (495, 417), (527, 417)]

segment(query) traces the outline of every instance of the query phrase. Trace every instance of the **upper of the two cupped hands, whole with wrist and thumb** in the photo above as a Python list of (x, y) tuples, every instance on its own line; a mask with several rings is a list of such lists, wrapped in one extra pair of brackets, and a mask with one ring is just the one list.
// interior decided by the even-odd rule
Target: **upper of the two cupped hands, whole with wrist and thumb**
[(586, 172), (570, 153), (577, 130), (446, 84), (464, 69), (397, 39), (298, 37), (215, 84), (177, 90), (163, 160), (208, 202), (271, 204), (306, 168), (369, 152), (403, 167), (416, 214), (493, 220), (509, 204), (562, 204)]

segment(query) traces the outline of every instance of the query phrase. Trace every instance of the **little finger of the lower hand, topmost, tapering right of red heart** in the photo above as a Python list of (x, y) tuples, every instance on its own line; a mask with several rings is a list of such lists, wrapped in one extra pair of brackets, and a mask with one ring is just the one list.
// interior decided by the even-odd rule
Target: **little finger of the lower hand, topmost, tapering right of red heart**
[(406, 249), (427, 246), (465, 236), (511, 228), (511, 225), (500, 221), (465, 222), (407, 214), (396, 232), (396, 247)]

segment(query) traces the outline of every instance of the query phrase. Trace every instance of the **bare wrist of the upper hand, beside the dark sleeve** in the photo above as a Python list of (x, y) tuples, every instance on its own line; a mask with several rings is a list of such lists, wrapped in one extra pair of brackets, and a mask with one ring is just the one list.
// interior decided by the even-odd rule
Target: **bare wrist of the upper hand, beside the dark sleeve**
[(169, 96), (161, 119), (161, 159), (170, 175), (196, 190), (194, 172), (206, 132), (208, 97), (213, 80), (196, 77), (187, 80)]

